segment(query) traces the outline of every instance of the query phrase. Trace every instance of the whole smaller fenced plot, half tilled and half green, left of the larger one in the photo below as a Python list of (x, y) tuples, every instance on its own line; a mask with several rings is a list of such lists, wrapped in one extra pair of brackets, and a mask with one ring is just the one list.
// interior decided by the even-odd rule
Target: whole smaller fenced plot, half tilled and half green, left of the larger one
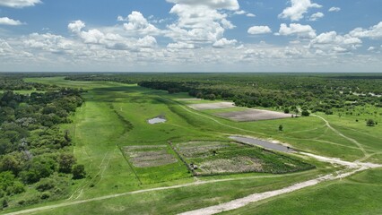
[(141, 184), (153, 184), (190, 176), (187, 167), (168, 145), (135, 145), (122, 148)]

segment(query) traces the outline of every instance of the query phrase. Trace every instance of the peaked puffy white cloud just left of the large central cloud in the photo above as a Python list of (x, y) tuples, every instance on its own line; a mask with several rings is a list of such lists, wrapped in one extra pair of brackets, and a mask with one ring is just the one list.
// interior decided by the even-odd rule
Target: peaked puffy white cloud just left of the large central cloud
[(146, 18), (144, 18), (143, 14), (140, 12), (134, 11), (133, 13), (128, 15), (126, 19), (123, 19), (123, 17), (118, 17), (118, 21), (124, 20), (128, 21), (128, 23), (124, 24), (124, 27), (127, 31), (143, 35), (158, 34), (160, 32), (160, 30), (158, 30), (155, 26), (149, 23), (146, 20)]

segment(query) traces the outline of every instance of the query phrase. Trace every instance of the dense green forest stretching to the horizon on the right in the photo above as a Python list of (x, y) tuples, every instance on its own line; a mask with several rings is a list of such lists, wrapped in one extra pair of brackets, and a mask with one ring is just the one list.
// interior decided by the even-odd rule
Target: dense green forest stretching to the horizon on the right
[(138, 83), (140, 86), (187, 92), (201, 99), (232, 100), (242, 107), (274, 107), (333, 114), (334, 108), (370, 104), (382, 107), (382, 76), (375, 74), (285, 74), (285, 73), (186, 73), (186, 74), (82, 74), (70, 80)]

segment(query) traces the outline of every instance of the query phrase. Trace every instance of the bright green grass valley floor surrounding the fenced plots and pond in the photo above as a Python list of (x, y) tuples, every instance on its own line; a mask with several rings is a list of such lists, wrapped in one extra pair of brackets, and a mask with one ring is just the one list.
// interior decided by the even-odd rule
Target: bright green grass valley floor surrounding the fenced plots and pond
[[(316, 116), (236, 123), (213, 116), (216, 113), (214, 110), (196, 111), (186, 107), (186, 103), (207, 101), (178, 101), (188, 98), (185, 93), (168, 94), (116, 82), (72, 82), (59, 77), (26, 81), (87, 90), (83, 94), (85, 104), (72, 116), (74, 123), (63, 126), (71, 130), (75, 143), (74, 155), (79, 163), (85, 165), (88, 176), (71, 185), (71, 194), (67, 199), (33, 207), (84, 202), (36, 214), (175, 214), (228, 202), (251, 193), (275, 190), (338, 169), (308, 159), (304, 161), (317, 168), (274, 175), (254, 172), (195, 178), (169, 147), (166, 151), (177, 159), (176, 162), (150, 168), (135, 167), (131, 158), (123, 152), (131, 146), (167, 146), (169, 142), (199, 140), (227, 142), (228, 136), (239, 134), (285, 142), (294, 149), (317, 155), (382, 163), (382, 127), (367, 127), (364, 119), (369, 117), (368, 114), (340, 117), (318, 113), (317, 116), (324, 117), (333, 129)], [(380, 109), (372, 110), (375, 111), (380, 112)], [(156, 116), (165, 116), (167, 122), (149, 125), (147, 120)], [(380, 115), (378, 121), (382, 122)], [(282, 132), (278, 130), (279, 125), (283, 125)], [(226, 153), (228, 156), (233, 152)], [(300, 159), (294, 155), (286, 156)], [(341, 181), (256, 202), (228, 214), (378, 214), (382, 212), (382, 205), (378, 203), (382, 197), (381, 174), (380, 169), (364, 171)], [(198, 180), (211, 183), (181, 186)], [(100, 196), (173, 185), (180, 186), (86, 201)], [(17, 210), (22, 208), (11, 211)]]

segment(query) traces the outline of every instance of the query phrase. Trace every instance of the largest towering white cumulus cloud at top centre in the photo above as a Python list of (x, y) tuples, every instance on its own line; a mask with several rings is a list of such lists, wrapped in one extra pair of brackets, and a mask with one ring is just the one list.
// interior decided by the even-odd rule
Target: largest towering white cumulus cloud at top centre
[(237, 0), (168, 0), (168, 2), (175, 4), (169, 13), (176, 14), (178, 21), (168, 25), (165, 36), (173, 39), (175, 44), (220, 46), (232, 41), (223, 39), (225, 30), (235, 28), (235, 25), (227, 20), (228, 14), (223, 11), (240, 13)]

